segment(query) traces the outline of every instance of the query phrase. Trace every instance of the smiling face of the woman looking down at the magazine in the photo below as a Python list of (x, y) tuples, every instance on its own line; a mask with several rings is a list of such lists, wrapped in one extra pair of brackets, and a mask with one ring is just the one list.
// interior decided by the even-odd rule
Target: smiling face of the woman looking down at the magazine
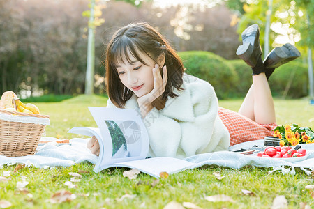
[(133, 91), (137, 97), (142, 97), (154, 88), (153, 68), (155, 68), (156, 63), (147, 54), (141, 52), (138, 54), (147, 65), (128, 54), (130, 63), (126, 58), (120, 61), (117, 64), (117, 72), (122, 84)]

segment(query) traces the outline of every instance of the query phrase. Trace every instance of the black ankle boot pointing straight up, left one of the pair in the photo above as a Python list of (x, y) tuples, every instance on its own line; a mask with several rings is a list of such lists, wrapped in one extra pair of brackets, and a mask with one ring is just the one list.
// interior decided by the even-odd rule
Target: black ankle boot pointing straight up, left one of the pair
[(243, 45), (240, 45), (236, 54), (243, 59), (251, 68), (257, 65), (257, 61), (262, 54), (260, 47), (260, 29), (257, 24), (253, 24), (242, 33)]

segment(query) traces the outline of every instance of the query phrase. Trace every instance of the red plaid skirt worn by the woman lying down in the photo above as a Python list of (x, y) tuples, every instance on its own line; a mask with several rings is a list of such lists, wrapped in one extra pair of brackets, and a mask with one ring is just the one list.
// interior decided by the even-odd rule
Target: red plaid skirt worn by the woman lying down
[(218, 116), (230, 133), (230, 146), (272, 136), (274, 132), (271, 130), (277, 127), (276, 123), (256, 123), (250, 118), (246, 118), (246, 116), (242, 116), (235, 111), (223, 107), (218, 108)]

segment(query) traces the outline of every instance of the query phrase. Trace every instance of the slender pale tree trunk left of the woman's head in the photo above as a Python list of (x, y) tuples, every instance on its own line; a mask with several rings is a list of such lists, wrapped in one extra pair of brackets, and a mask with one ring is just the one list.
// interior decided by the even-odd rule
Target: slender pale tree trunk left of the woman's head
[(95, 65), (94, 7), (95, 0), (91, 0), (91, 13), (89, 16), (89, 38), (87, 45), (87, 70), (85, 78), (85, 94), (94, 93), (94, 65)]

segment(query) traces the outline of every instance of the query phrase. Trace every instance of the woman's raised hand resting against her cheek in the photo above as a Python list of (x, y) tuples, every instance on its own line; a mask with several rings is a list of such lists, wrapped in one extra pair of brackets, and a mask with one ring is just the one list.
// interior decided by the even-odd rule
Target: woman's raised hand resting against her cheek
[(165, 92), (165, 86), (167, 84), (167, 67), (163, 67), (163, 77), (161, 77), (159, 65), (155, 65), (153, 68), (153, 76), (154, 76), (154, 88), (150, 93), (143, 95), (140, 98), (137, 98), (138, 106), (140, 107), (140, 112), (142, 118), (144, 118), (151, 109), (153, 109), (153, 105), (151, 102), (156, 100), (156, 98), (160, 97)]

